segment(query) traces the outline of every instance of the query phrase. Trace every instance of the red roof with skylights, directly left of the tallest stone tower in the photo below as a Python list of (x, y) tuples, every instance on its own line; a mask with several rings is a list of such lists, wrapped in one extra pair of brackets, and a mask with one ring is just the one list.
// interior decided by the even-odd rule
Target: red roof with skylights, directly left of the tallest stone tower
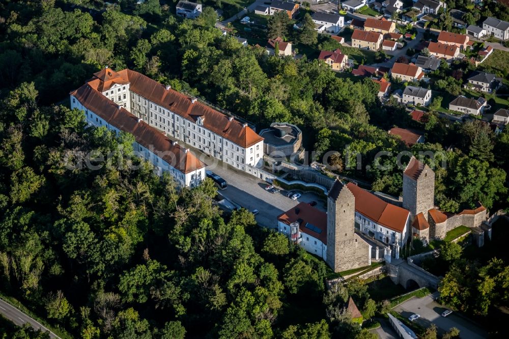
[[(298, 214), (296, 213), (297, 209), (299, 211)], [(292, 222), (296, 222), (299, 219), (301, 219), (301, 222), (299, 223), (300, 232), (320, 239), (321, 242), (327, 245), (327, 213), (322, 212), (307, 203), (300, 203), (294, 208), (280, 214), (277, 217), (277, 220), (284, 222), (287, 225), (291, 224)], [(317, 233), (311, 229), (306, 228), (306, 224), (308, 222), (312, 225), (315, 225), (317, 228), (322, 230), (322, 232)]]

